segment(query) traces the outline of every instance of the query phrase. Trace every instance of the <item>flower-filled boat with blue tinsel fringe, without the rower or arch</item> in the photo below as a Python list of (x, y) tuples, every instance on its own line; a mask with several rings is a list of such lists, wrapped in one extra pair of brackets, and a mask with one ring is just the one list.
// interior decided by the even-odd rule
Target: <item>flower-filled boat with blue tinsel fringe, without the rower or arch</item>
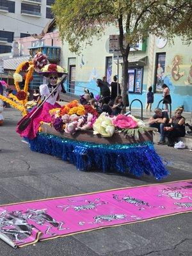
[(60, 157), (77, 170), (168, 175), (153, 145), (154, 129), (132, 115), (109, 116), (74, 100), (49, 111), (52, 121), (42, 122), (29, 141), (31, 150)]

